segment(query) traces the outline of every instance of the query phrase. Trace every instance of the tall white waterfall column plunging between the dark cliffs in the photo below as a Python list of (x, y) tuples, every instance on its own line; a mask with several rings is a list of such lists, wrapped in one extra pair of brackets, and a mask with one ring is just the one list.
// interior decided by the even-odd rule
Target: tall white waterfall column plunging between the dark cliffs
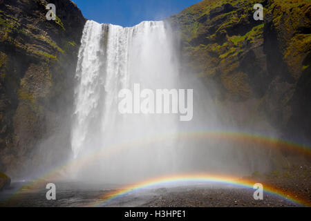
[[(87, 21), (79, 49), (72, 150), (83, 177), (124, 182), (167, 173), (174, 168), (176, 115), (122, 115), (123, 88), (178, 88), (178, 59), (171, 30), (163, 21), (131, 28)], [(90, 162), (91, 161), (91, 162)]]

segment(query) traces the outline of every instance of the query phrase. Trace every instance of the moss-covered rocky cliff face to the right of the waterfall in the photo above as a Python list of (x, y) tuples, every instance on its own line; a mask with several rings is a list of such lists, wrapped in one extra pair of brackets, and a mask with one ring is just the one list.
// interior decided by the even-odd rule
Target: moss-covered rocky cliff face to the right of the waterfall
[[(264, 21), (254, 20), (256, 3)], [(235, 126), (310, 142), (310, 13), (303, 0), (204, 0), (168, 21), (181, 34), (183, 72), (205, 81)]]

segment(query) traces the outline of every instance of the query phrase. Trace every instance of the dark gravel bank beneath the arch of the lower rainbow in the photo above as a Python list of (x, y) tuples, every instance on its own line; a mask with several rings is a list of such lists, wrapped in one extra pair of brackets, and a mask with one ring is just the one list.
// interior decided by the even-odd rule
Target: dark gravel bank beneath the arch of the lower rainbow
[(274, 195), (254, 200), (251, 189), (175, 189), (160, 195), (150, 207), (292, 207), (299, 206)]

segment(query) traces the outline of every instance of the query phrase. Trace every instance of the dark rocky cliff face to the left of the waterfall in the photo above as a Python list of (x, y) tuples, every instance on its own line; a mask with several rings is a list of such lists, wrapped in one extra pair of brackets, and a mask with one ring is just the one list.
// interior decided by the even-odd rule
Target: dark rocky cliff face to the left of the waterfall
[[(48, 3), (56, 6), (55, 21), (46, 19)], [(43, 169), (70, 153), (68, 119), (85, 21), (69, 0), (0, 4), (0, 171)]]

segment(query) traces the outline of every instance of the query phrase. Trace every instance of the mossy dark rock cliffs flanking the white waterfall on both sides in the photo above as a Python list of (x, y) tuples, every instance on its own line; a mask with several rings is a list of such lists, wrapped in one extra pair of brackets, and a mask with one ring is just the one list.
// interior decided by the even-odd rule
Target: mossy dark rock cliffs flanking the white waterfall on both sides
[[(69, 0), (0, 2), (0, 171), (16, 177), (70, 154), (86, 20)], [(48, 3), (55, 21), (46, 19)], [(253, 18), (255, 3), (264, 6), (263, 21)], [(181, 37), (182, 73), (205, 82), (226, 110), (220, 119), (308, 143), (310, 11), (308, 0), (204, 0), (167, 21)]]

